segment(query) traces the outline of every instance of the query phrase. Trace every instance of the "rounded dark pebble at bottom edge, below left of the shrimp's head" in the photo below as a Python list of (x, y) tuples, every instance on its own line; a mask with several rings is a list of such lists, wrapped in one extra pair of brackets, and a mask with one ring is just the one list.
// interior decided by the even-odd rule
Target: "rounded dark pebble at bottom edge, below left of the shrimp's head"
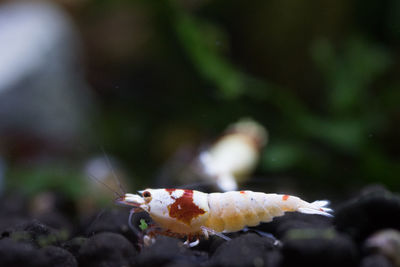
[(131, 266), (137, 251), (122, 235), (99, 233), (87, 240), (79, 250), (80, 266)]

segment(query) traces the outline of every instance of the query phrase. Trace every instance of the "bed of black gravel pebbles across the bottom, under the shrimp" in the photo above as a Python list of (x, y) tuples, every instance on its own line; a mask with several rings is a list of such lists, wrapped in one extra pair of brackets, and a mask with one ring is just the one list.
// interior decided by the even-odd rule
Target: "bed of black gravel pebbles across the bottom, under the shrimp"
[(229, 234), (230, 241), (213, 236), (195, 248), (165, 236), (143, 247), (126, 209), (74, 218), (55, 208), (33, 219), (27, 201), (2, 198), (0, 266), (394, 267), (400, 261), (400, 196), (379, 186), (333, 203), (334, 218), (288, 213)]

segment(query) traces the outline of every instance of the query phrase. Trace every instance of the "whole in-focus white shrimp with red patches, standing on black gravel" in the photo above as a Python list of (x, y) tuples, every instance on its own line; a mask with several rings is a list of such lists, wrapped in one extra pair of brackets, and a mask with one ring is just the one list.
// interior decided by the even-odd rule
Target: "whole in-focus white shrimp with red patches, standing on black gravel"
[(188, 242), (193, 237), (207, 238), (270, 222), (285, 212), (332, 216), (328, 201), (309, 203), (290, 195), (252, 191), (207, 194), (187, 189), (146, 189), (140, 194), (127, 193), (117, 203), (133, 207), (132, 212), (147, 212), (163, 229), (160, 234), (187, 237)]

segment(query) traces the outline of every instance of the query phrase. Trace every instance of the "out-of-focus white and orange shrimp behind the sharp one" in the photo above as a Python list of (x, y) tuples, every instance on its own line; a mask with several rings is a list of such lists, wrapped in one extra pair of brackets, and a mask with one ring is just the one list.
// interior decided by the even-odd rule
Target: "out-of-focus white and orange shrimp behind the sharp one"
[(195, 153), (190, 149), (183, 153), (184, 147), (174, 153), (165, 164), (166, 173), (161, 175), (163, 181), (159, 179), (158, 186), (176, 184), (235, 191), (239, 183), (251, 178), (267, 141), (267, 131), (261, 124), (250, 118), (240, 119), (215, 142), (198, 149), (198, 155), (190, 155)]

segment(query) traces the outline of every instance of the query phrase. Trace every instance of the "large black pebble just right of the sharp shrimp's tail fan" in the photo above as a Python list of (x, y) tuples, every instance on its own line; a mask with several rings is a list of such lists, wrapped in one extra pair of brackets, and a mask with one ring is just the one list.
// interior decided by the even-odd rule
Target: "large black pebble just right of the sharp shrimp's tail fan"
[(400, 230), (400, 196), (382, 187), (368, 187), (337, 209), (334, 224), (358, 242), (380, 229)]

